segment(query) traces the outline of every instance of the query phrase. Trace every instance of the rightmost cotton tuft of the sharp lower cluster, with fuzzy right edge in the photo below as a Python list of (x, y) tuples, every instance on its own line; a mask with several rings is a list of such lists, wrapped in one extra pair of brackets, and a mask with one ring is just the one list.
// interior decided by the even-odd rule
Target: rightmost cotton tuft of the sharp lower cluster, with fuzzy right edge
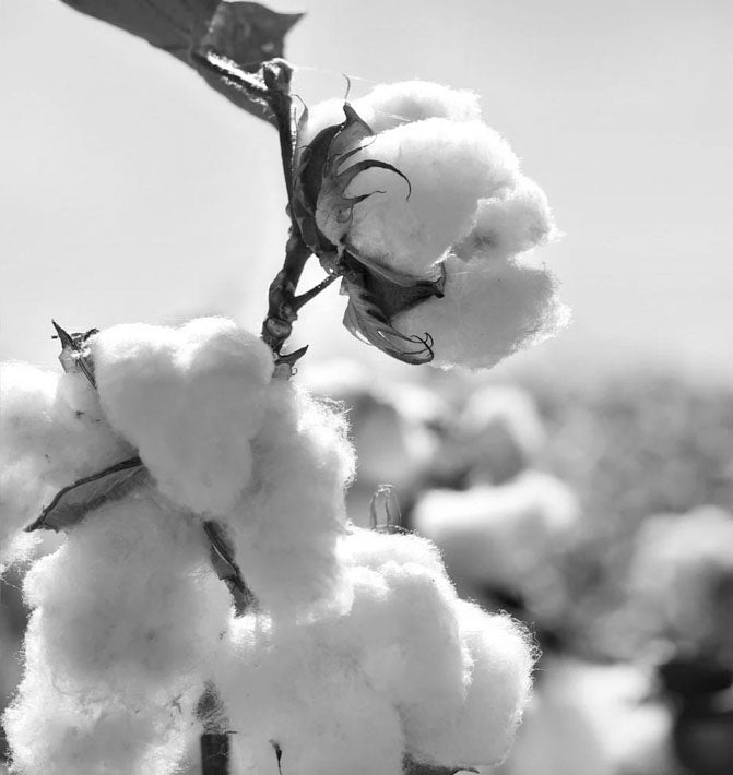
[(445, 765), (497, 763), (529, 701), (535, 655), (524, 630), (508, 617), (463, 600), (456, 610), (471, 658), (466, 698), (450, 723), (426, 739), (424, 752)]

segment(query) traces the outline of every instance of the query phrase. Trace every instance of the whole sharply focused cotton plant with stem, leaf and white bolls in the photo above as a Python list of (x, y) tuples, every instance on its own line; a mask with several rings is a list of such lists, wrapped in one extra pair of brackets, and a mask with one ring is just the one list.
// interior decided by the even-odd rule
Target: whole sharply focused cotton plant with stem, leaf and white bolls
[[(106, 17), (143, 34), (130, 9)], [(293, 68), (264, 56), (293, 20), (221, 3), (201, 35), (200, 10), (169, 31), (188, 49), (145, 36), (276, 127), (285, 261), (259, 336), (223, 318), (57, 326), (62, 374), (3, 368), (2, 562), (21, 534), (66, 536), (25, 579), (13, 771), (159, 775), (196, 768), (199, 743), (204, 773), (493, 764), (534, 649), (458, 597), (389, 496), (373, 529), (348, 518), (346, 422), (292, 379), (306, 348), (287, 341), (338, 278), (346, 327), (410, 363), (488, 367), (551, 335), (556, 282), (524, 263), (555, 235), (546, 200), (474, 95), (411, 82), (295, 116)], [(298, 295), (311, 255), (326, 278)]]

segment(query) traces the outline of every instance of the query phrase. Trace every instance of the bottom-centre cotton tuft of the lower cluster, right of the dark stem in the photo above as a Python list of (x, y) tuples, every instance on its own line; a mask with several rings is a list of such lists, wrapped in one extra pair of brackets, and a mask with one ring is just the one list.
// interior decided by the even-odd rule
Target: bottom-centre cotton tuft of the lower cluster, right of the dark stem
[(234, 659), (217, 678), (229, 714), (233, 772), (400, 775), (400, 718), (353, 657), (318, 630), (235, 620)]

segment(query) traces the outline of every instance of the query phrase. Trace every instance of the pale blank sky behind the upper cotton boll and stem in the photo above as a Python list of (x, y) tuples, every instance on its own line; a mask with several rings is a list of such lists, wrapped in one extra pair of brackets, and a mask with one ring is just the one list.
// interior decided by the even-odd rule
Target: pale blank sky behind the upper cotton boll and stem
[[(572, 329), (527, 356), (733, 375), (733, 2), (273, 0), (308, 103), (342, 73), (475, 90), (547, 192)], [(191, 70), (57, 0), (0, 0), (0, 355), (70, 330), (221, 312), (259, 330), (286, 222), (274, 131)], [(310, 358), (364, 345), (330, 300)], [(342, 302), (339, 302), (342, 306)], [(387, 358), (374, 362), (387, 366)], [(564, 368), (565, 368), (564, 367)]]

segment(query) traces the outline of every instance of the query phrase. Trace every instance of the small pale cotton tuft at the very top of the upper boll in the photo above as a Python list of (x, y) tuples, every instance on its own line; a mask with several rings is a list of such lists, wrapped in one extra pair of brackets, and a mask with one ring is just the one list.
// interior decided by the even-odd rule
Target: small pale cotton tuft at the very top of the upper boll
[(481, 119), (478, 95), (429, 81), (380, 84), (365, 97), (354, 100), (354, 109), (375, 132), (427, 118)]

